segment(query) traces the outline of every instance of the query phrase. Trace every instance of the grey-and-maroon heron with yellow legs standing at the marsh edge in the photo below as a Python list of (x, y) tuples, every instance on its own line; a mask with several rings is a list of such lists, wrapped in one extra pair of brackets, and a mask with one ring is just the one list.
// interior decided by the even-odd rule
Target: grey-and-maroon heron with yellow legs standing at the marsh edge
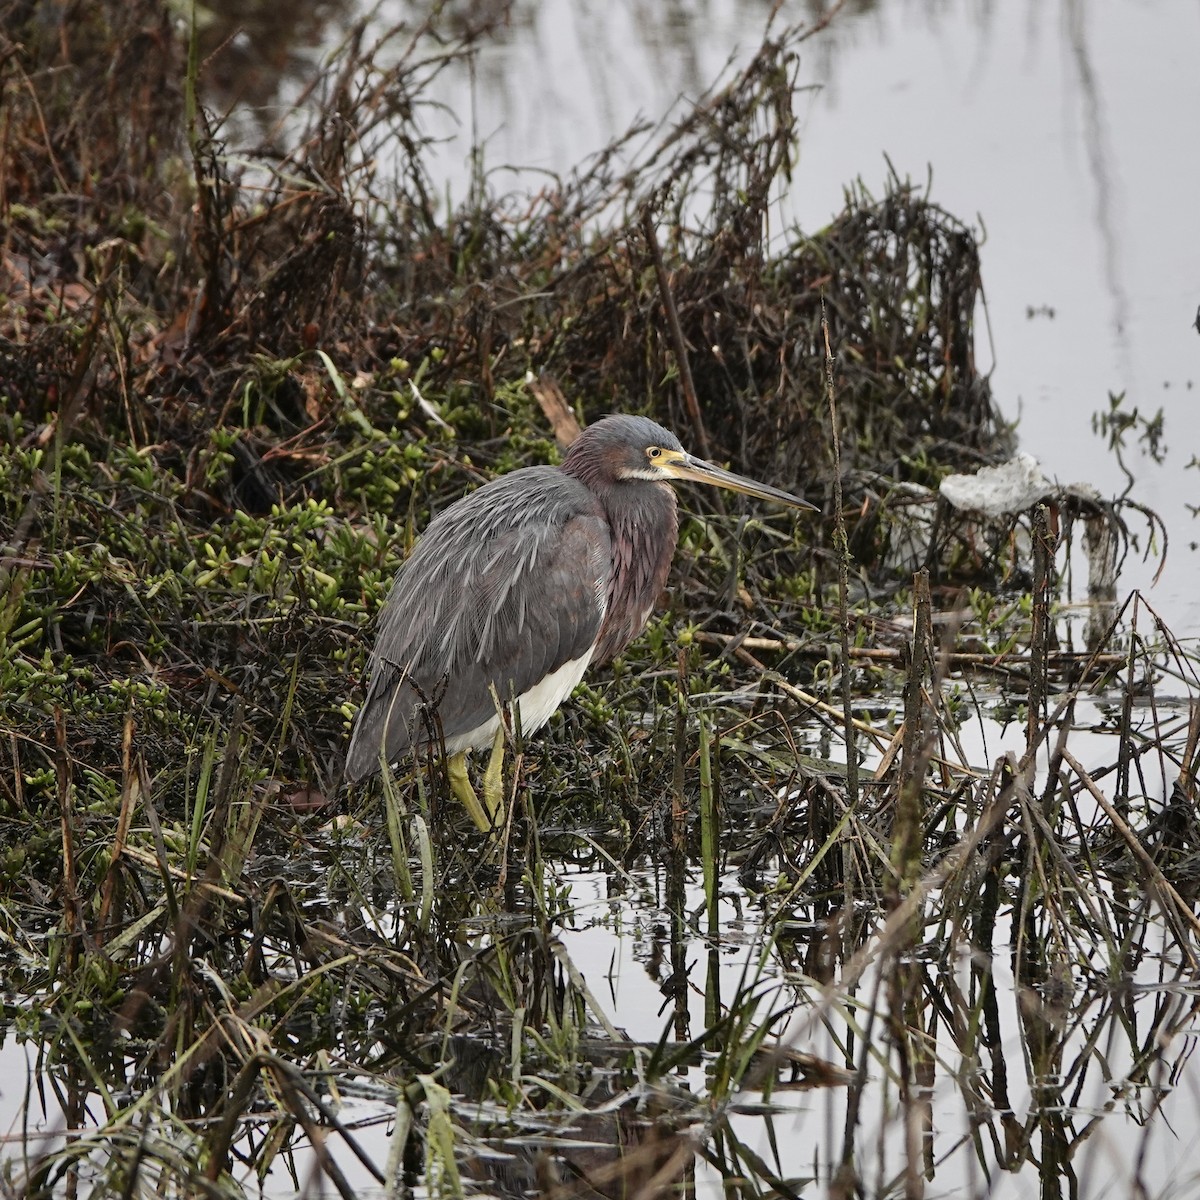
[[(606, 416), (560, 467), (485, 484), (430, 522), (396, 576), (346, 778), (437, 744), (440, 731), (451, 790), (491, 829), (503, 800), (500, 706), (515, 701), (522, 731), (534, 732), (589, 665), (646, 628), (674, 554), (676, 479), (814, 508), (692, 457), (644, 416)], [(480, 804), (466, 752), (486, 745)]]

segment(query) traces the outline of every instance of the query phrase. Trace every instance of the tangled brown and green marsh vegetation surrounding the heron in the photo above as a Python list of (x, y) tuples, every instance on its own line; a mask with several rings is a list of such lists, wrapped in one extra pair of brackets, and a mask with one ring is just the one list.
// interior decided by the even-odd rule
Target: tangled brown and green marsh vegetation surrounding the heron
[[(896, 180), (767, 239), (804, 32), (448, 206), (422, 89), (484, 28), (352, 30), (233, 145), (166, 8), (43, 16), (0, 46), (4, 1194), (1194, 1187), (1200, 685), (1114, 584), (1159, 526), (941, 497), (1014, 443), (974, 234)], [(341, 788), (428, 515), (612, 409), (824, 518), (689, 493), (490, 852), (436, 760)]]

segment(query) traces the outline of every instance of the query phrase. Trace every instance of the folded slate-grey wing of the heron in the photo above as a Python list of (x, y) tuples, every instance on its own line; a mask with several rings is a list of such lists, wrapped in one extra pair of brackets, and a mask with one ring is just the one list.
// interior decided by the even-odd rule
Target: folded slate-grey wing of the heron
[(588, 654), (611, 572), (598, 502), (553, 467), (504, 475), (436, 517), (384, 605), (347, 778), (427, 740), (426, 707), (449, 743), (494, 713), (493, 686), (520, 696)]

